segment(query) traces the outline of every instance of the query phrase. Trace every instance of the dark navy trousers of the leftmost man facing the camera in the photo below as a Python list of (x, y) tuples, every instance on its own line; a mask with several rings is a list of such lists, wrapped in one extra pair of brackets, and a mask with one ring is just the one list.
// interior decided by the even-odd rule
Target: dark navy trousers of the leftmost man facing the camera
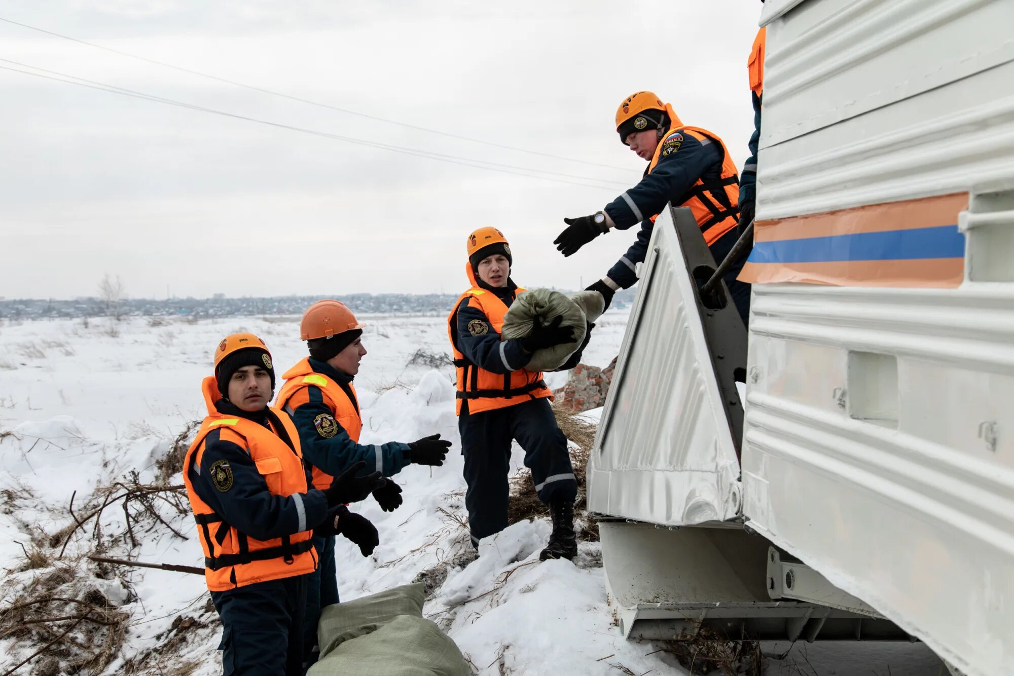
[(225, 676), (300, 676), (306, 576), (212, 592)]

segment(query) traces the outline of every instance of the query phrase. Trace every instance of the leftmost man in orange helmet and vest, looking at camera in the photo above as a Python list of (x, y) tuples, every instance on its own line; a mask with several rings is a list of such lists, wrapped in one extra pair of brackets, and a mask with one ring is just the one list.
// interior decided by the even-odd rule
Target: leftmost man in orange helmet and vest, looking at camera
[(222, 619), (226, 676), (302, 673), (305, 584), (317, 566), (314, 529), (372, 531), (372, 539), (357, 541), (370, 550), (376, 544), (376, 529), (344, 505), (369, 496), (380, 475), (357, 478), (360, 463), (322, 490), (311, 489), (292, 421), (268, 405), (274, 388), (264, 341), (252, 333), (222, 340), (215, 375), (202, 386), (208, 417), (184, 458), (205, 581)]

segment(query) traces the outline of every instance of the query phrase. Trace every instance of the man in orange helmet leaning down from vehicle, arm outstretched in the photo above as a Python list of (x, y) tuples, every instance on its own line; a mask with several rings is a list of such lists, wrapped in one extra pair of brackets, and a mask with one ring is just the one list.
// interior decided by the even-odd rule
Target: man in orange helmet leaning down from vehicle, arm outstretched
[[(591, 216), (565, 218), (567, 228), (554, 240), (557, 249), (571, 255), (610, 229), (641, 224), (637, 241), (588, 291), (598, 291), (608, 307), (612, 295), (637, 282), (636, 266), (643, 262), (655, 217), (667, 203), (690, 207), (701, 234), (720, 264), (736, 243), (739, 218), (739, 178), (722, 140), (699, 127), (680, 122), (672, 105), (650, 91), (639, 91), (617, 109), (620, 140), (648, 161), (637, 185)], [(743, 321), (749, 315), (750, 289), (736, 281), (742, 262), (723, 278)]]

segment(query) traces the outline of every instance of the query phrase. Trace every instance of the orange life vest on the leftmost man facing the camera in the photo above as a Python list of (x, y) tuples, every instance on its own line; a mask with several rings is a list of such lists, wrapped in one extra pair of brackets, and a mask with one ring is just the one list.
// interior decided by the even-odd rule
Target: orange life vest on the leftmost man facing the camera
[[(208, 404), (208, 417), (184, 457), (184, 483), (187, 484), (187, 497), (199, 526), (198, 538), (204, 549), (204, 578), (208, 589), (222, 592), (258, 582), (312, 573), (317, 564), (317, 554), (310, 540), (312, 530), (271, 540), (247, 537), (224, 522), (198, 497), (190, 476), (191, 468), (200, 471), (205, 437), (213, 430), (222, 430), (223, 440), (246, 449), (272, 495), (287, 497), (306, 493), (306, 472), (296, 426), (285, 411), (276, 408), (270, 409), (274, 412), (270, 417), (273, 419), (272, 430), (245, 418), (223, 416), (215, 409), (215, 400), (219, 397), (215, 377), (205, 378), (202, 389)], [(293, 448), (279, 438), (275, 421), (284, 428)]]

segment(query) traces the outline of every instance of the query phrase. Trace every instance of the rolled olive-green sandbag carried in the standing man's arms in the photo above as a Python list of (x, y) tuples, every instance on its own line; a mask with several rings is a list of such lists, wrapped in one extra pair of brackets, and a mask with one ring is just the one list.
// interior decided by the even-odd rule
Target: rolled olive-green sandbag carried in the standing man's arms
[(532, 289), (519, 295), (507, 314), (500, 333), (505, 339), (520, 339), (531, 332), (532, 320), (538, 317), (542, 325), (559, 316), (562, 326), (574, 328), (574, 343), (565, 343), (538, 350), (525, 366), (529, 371), (553, 371), (563, 366), (567, 358), (584, 342), (588, 323), (604, 311), (605, 301), (597, 291), (579, 291), (570, 298), (559, 291)]

